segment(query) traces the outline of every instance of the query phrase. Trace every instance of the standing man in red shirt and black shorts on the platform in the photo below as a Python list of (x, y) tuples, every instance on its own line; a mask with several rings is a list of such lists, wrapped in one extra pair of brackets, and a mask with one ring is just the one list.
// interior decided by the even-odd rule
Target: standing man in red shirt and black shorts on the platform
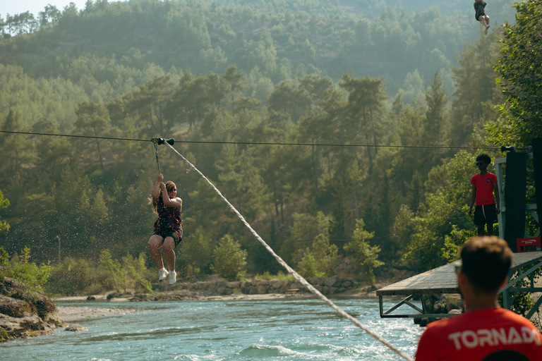
[[(488, 172), (488, 165), (491, 158), (488, 154), (480, 154), (476, 157), (476, 166), (480, 170), (479, 174), (471, 179), (472, 194), (469, 216), (472, 216), (472, 206), (476, 200), (476, 209), (474, 210), (474, 224), (478, 226), (478, 235), (483, 235), (486, 224), (488, 225), (488, 235), (493, 235), (493, 223), (495, 216), (500, 213), (499, 190), (497, 185), (497, 176)], [(495, 200), (493, 200), (493, 191), (495, 191)]]

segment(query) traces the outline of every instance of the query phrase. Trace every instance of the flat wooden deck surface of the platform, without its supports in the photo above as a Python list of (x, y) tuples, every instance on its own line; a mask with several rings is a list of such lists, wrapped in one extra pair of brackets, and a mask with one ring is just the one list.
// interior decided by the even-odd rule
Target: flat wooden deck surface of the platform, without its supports
[[(542, 261), (542, 252), (523, 252), (514, 253), (512, 259), (511, 272), (520, 267), (525, 267), (533, 262)], [(429, 295), (440, 293), (459, 293), (457, 288), (457, 275), (455, 274), (455, 265), (461, 264), (461, 261), (445, 264), (442, 267), (431, 269), (404, 279), (390, 286), (380, 288), (376, 295)]]

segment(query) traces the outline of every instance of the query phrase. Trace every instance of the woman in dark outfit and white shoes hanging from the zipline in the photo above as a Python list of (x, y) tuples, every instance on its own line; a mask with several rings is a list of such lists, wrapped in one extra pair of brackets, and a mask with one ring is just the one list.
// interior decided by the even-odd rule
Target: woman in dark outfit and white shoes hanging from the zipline
[[(152, 210), (159, 216), (155, 222), (155, 233), (150, 236), (149, 247), (150, 257), (158, 268), (158, 281), (163, 281), (169, 276), (169, 284), (176, 281), (175, 272), (175, 247), (183, 240), (183, 228), (181, 225), (181, 210), (183, 201), (176, 197), (177, 188), (175, 183), (168, 181), (164, 184), (162, 173), (158, 175), (155, 187), (152, 188)], [(167, 267), (164, 268), (164, 261), (160, 254), (160, 248), (164, 252)]]

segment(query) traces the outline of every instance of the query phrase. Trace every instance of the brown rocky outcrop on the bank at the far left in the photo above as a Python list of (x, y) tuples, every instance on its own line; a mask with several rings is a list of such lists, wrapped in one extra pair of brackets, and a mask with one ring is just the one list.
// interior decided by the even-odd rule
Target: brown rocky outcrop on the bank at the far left
[(28, 292), (8, 277), (0, 281), (0, 341), (53, 334), (60, 326), (66, 324), (46, 295)]

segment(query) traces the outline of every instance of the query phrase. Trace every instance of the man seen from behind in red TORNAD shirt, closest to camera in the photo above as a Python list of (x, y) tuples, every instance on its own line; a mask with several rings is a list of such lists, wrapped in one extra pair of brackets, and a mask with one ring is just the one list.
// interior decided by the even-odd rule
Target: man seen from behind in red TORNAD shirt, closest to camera
[(512, 263), (512, 250), (495, 236), (474, 237), (461, 250), (457, 269), (465, 313), (428, 324), (416, 361), (539, 361), (542, 336), (531, 322), (497, 302)]

